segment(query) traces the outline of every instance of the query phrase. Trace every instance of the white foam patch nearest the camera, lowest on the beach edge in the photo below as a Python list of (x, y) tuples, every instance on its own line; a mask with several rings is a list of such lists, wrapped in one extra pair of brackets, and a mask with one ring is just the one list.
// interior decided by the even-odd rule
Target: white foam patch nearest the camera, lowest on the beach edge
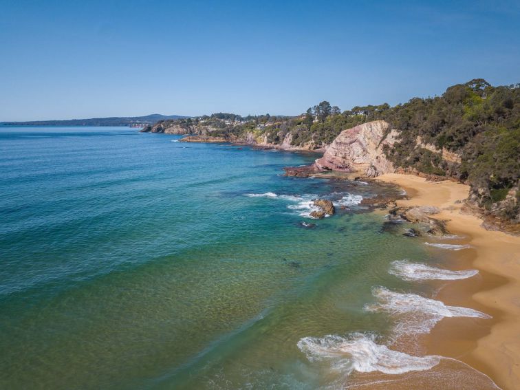
[(304, 337), (299, 340), (298, 347), (310, 361), (330, 361), (333, 369), (347, 374), (352, 371), (388, 374), (424, 371), (435, 367), (441, 360), (441, 356), (411, 356), (394, 351), (375, 343), (373, 336), (360, 333), (347, 338), (332, 335)]

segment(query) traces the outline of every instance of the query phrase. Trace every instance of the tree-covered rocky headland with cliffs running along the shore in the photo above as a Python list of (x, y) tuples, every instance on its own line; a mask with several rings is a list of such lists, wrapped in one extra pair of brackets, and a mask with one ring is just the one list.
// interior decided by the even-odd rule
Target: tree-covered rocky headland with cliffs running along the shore
[(412, 173), (470, 185), (468, 210), (489, 226), (520, 230), (520, 85), (494, 87), (477, 78), (442, 96), (391, 107), (340, 111), (323, 101), (299, 116), (211, 116), (162, 120), (144, 132), (181, 134), (191, 142), (232, 142), (287, 151), (324, 151), (312, 166), (287, 175), (361, 177)]

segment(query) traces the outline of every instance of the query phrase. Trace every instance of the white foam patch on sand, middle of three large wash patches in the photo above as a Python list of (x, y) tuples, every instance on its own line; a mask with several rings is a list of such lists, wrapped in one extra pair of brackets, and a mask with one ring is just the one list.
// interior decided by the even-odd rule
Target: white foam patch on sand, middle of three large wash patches
[(444, 317), (492, 318), (468, 307), (448, 306), (441, 301), (417, 294), (402, 294), (384, 287), (372, 289), (379, 303), (365, 305), (370, 312), (389, 312), (402, 316), (396, 326), (397, 336), (410, 333), (429, 333)]

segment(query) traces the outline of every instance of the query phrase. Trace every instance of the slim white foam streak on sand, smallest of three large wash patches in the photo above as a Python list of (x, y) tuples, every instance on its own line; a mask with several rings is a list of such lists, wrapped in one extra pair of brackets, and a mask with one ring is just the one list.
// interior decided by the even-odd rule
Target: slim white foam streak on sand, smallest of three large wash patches
[(477, 270), (451, 271), (442, 268), (426, 266), (422, 263), (411, 263), (407, 260), (393, 261), (389, 270), (390, 274), (396, 275), (406, 281), (417, 280), (444, 280), (453, 281), (475, 276)]

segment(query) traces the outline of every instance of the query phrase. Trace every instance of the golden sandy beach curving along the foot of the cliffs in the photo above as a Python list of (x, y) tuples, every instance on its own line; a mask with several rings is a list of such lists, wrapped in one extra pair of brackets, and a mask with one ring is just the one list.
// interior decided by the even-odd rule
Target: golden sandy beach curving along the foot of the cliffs
[[(482, 310), (487, 307), (495, 320), (483, 335), (475, 331), (462, 335), (459, 329), (451, 329), (451, 348), (457, 342), (464, 344), (464, 356), (457, 356), (473, 367), (486, 373), (502, 389), (520, 389), (520, 237), (506, 235), (503, 232), (488, 231), (482, 228), (481, 219), (461, 213), (461, 203), (468, 196), (469, 186), (451, 181), (427, 182), (415, 175), (390, 173), (377, 178), (383, 182), (397, 184), (407, 191), (410, 199), (398, 202), (398, 206), (437, 206), (442, 213), (435, 215), (438, 219), (448, 220), (447, 228), (456, 235), (466, 237), (465, 242), (475, 249), (468, 259), (467, 254), (455, 252), (468, 265), (477, 268), (487, 283), (479, 286), (479, 290), (471, 288), (471, 284), (453, 283), (447, 294), (440, 297), (451, 301), (466, 301), (466, 305)], [(461, 253), (461, 254), (458, 254)], [(475, 254), (476, 253), (476, 254)], [(466, 259), (464, 259), (466, 257)], [(462, 290), (462, 288), (465, 290)], [(474, 285), (473, 285), (474, 287)], [(466, 295), (453, 299), (453, 294)], [(451, 302), (450, 302), (451, 303)], [(472, 305), (473, 303), (473, 305)], [(450, 324), (439, 324), (437, 332), (445, 332), (446, 328), (458, 327), (454, 321)], [(435, 335), (434, 335), (435, 336)], [(474, 340), (468, 340), (470, 338)], [(462, 340), (464, 338), (465, 340)]]

